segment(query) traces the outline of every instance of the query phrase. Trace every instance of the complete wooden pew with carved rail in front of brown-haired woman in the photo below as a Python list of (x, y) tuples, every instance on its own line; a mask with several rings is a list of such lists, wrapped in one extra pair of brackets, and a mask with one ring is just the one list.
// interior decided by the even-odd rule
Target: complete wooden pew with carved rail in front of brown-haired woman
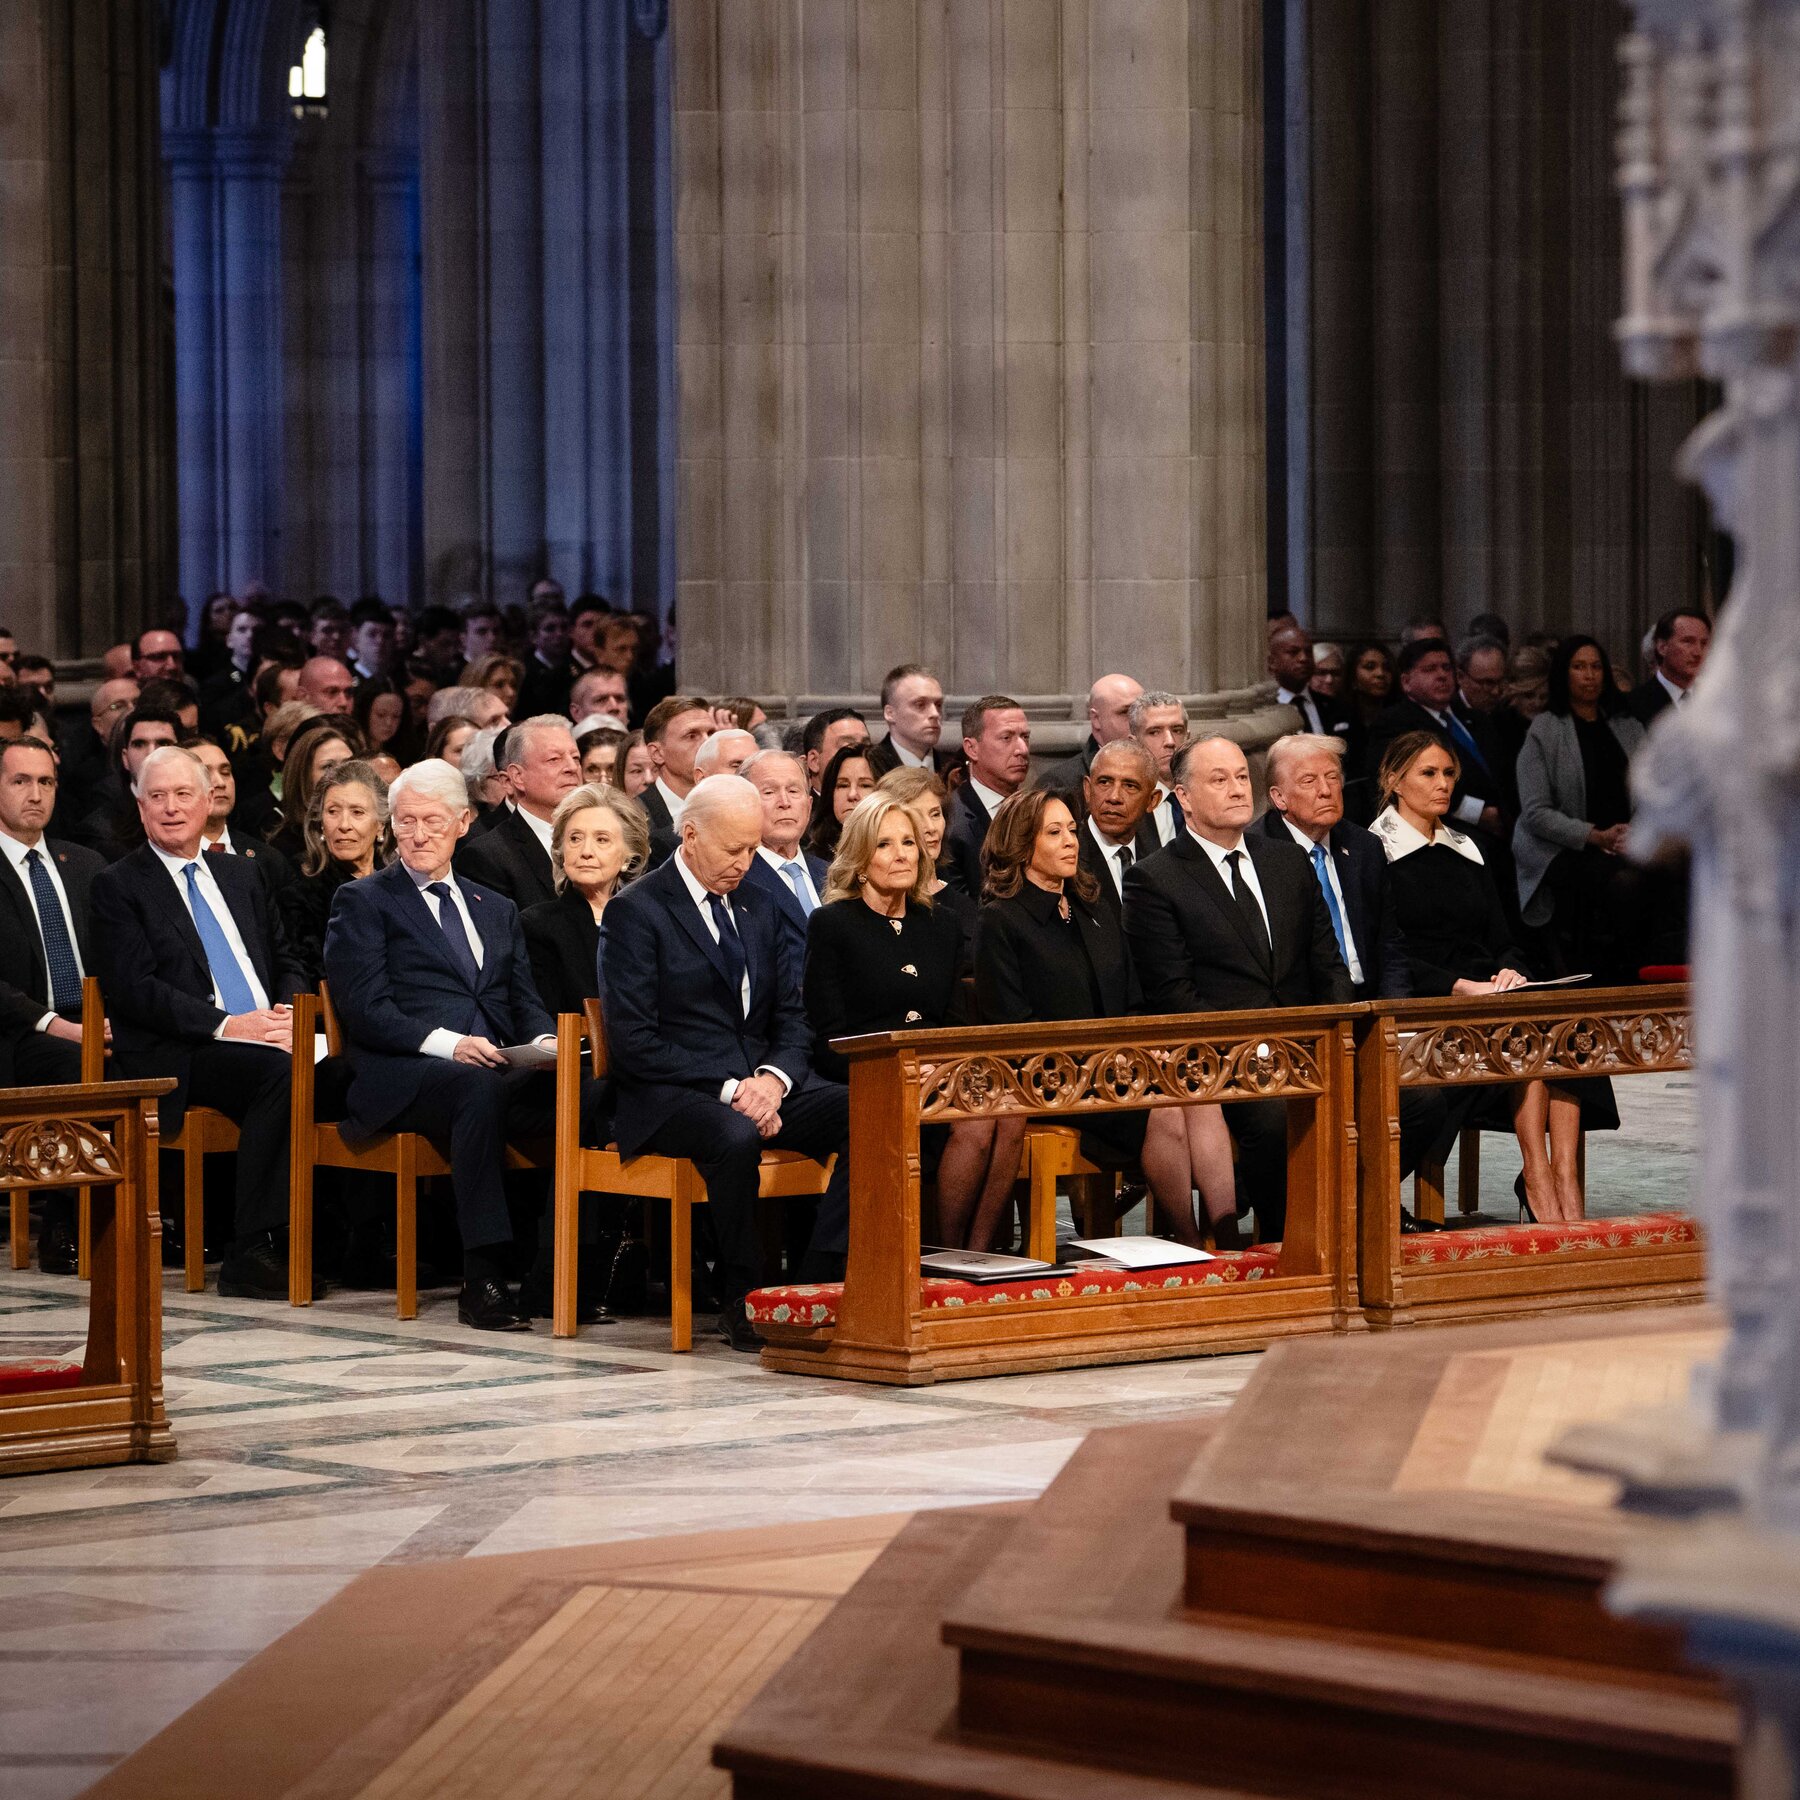
[[(1354, 1021), (1359, 1006), (844, 1039), (850, 1060), (850, 1271), (835, 1325), (763, 1325), (763, 1366), (925, 1384), (1078, 1368), (1361, 1328), (1355, 1291)], [(920, 1123), (1289, 1100), (1287, 1233), (1258, 1280), (931, 1307), (922, 1296)], [(1220, 1271), (1238, 1267), (1220, 1260)], [(801, 1294), (806, 1291), (801, 1289)]]

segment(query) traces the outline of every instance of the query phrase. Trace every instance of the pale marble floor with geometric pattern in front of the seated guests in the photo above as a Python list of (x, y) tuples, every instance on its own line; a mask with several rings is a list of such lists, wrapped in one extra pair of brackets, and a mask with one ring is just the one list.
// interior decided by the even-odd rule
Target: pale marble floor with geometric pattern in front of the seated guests
[[(1685, 1204), (1690, 1078), (1616, 1093), (1589, 1210)], [(1508, 1217), (1516, 1168), (1483, 1138), (1471, 1222)], [(450, 1291), (401, 1325), (391, 1296), (292, 1310), (171, 1274), (180, 1460), (0, 1481), (0, 1800), (77, 1795), (376, 1564), (1028, 1499), (1089, 1429), (1229, 1406), (1255, 1366), (905, 1391), (769, 1375), (706, 1323), (673, 1355), (659, 1319), (484, 1337)], [(74, 1282), (0, 1271), (0, 1359), (65, 1355), (83, 1330)]]

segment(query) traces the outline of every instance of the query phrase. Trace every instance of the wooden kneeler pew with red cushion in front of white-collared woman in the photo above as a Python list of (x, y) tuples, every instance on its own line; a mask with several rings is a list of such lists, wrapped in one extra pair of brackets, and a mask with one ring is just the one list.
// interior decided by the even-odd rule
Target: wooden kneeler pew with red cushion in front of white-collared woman
[[(1372, 1004), (1359, 1031), (1355, 1082), (1357, 1267), (1368, 1323), (1386, 1328), (1699, 1300), (1705, 1251), (1687, 1219), (1595, 1220), (1580, 1231), (1539, 1224), (1400, 1237), (1399, 1118), (1406, 1089), (1687, 1067), (1688, 994), (1679, 985)], [(1472, 1134), (1463, 1138), (1467, 1143)]]

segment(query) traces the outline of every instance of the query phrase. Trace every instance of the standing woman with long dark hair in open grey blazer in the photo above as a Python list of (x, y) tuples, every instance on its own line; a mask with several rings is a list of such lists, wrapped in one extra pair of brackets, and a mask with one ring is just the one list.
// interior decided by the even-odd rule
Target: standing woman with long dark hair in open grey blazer
[(1643, 725), (1625, 711), (1591, 637), (1562, 639), (1548, 686), (1519, 751), (1519, 911), (1526, 925), (1550, 927), (1559, 974), (1636, 981), (1652, 959), (1643, 943), (1645, 877), (1625, 860), (1631, 758)]

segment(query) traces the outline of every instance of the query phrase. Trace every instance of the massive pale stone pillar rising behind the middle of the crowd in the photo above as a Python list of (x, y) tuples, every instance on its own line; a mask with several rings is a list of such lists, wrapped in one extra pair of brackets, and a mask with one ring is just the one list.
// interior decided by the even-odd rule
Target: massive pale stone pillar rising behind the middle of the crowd
[(677, 0), (682, 680), (1249, 704), (1251, 0)]

